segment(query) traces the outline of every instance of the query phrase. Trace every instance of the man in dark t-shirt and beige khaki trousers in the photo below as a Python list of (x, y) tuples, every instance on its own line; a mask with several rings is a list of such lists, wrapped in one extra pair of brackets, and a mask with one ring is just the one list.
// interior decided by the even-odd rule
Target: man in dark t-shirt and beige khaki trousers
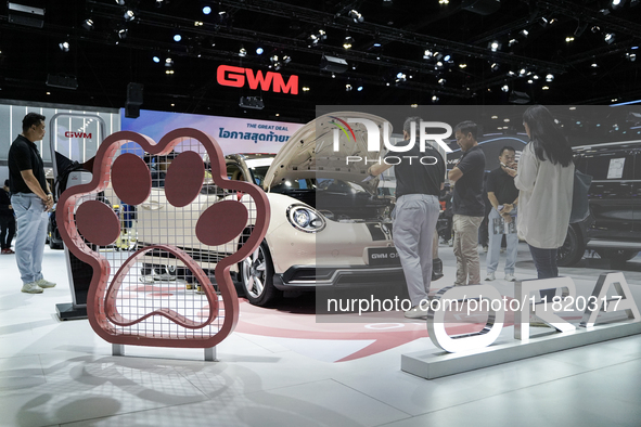
[(478, 146), (476, 133), (477, 126), (473, 121), (463, 121), (454, 127), (454, 137), (463, 151), (463, 156), (448, 172), (450, 182), (456, 183), (452, 203), (454, 255), (457, 256), (456, 286), (480, 283), (478, 227), (485, 216), (483, 202), (485, 154)]

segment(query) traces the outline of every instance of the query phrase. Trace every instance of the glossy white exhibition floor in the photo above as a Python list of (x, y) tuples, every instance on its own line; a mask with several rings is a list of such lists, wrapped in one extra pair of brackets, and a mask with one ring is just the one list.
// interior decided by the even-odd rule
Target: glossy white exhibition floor
[[(440, 257), (438, 287), (456, 269), (451, 248)], [(518, 259), (516, 275), (534, 277), (524, 245)], [(561, 273), (587, 289), (607, 270), (592, 259)], [(434, 348), (424, 337), (336, 363), (293, 350), (295, 338), (240, 332), (219, 362), (131, 346), (112, 357), (87, 321), (55, 315), (72, 299), (63, 251), (46, 249), (44, 273), (55, 288), (22, 294), (13, 256), (0, 256), (1, 426), (641, 426), (639, 335), (434, 380), (400, 371), (401, 354)], [(625, 275), (639, 295), (641, 257)]]

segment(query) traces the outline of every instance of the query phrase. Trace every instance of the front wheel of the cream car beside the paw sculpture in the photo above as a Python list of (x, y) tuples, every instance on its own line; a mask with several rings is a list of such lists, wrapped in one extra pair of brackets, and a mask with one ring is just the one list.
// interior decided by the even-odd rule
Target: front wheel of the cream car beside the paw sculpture
[(273, 286), (273, 262), (267, 242), (262, 241), (254, 254), (239, 263), (239, 272), (245, 297), (252, 305), (266, 307), (282, 295)]

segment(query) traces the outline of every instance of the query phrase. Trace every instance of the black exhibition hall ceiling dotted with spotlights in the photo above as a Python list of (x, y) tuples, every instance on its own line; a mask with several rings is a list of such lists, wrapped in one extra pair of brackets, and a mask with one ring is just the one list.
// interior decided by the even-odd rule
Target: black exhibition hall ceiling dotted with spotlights
[[(639, 3), (10, 0), (0, 98), (124, 107), (137, 82), (142, 108), (292, 121), (316, 105), (630, 102), (641, 99)], [(222, 86), (221, 65), (298, 76), (298, 93), (252, 89), (233, 72), (240, 87)]]

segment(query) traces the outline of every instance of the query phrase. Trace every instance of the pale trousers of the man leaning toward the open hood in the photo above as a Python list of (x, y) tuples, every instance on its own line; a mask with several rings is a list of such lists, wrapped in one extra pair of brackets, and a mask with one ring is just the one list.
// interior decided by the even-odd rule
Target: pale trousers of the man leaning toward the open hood
[(394, 246), (405, 272), (412, 306), (427, 299), (432, 281), (432, 242), (440, 205), (436, 196), (398, 197), (393, 223)]

